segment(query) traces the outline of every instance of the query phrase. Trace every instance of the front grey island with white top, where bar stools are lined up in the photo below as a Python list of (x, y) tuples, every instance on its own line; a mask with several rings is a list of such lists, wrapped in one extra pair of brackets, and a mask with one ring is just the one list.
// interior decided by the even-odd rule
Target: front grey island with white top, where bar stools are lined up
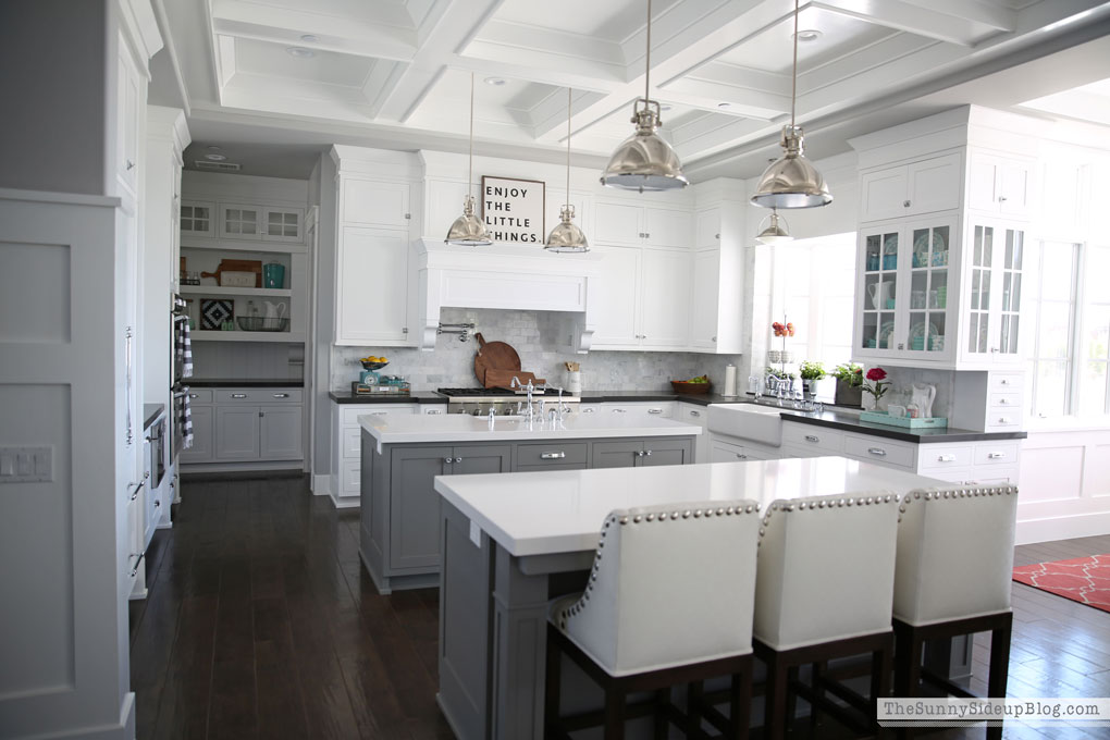
[(444, 476), (440, 693), (461, 740), (543, 738), (548, 600), (581, 591), (619, 508), (891, 491), (940, 480), (844, 457)]

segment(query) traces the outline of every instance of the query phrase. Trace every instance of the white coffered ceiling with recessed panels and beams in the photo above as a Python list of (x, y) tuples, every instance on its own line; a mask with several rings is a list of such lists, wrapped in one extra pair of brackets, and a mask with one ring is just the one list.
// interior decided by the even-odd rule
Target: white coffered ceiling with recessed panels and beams
[[(462, 151), (473, 73), (480, 152), (561, 156), (571, 88), (574, 150), (596, 164), (632, 133), (644, 94), (646, 0), (155, 6), (171, 43), (152, 100), (185, 103), (199, 143)], [(774, 155), (790, 114), (793, 10), (791, 0), (654, 0), (650, 94), (694, 179), (751, 176), (735, 170)], [(847, 122), (1110, 38), (1110, 2), (809, 0), (799, 28), (797, 118), (821, 155), (842, 151)], [(1096, 82), (1102, 59), (1012, 103)]]

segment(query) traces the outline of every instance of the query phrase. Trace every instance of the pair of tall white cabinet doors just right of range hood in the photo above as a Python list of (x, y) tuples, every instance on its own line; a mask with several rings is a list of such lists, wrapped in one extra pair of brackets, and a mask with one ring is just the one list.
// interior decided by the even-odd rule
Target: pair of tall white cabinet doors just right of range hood
[(685, 347), (693, 265), (687, 250), (598, 246), (602, 306), (595, 349)]

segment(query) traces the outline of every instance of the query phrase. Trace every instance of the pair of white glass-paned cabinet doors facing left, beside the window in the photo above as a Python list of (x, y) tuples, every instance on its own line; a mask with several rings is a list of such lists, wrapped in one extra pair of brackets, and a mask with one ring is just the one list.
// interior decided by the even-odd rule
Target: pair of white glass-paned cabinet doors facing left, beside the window
[(951, 361), (955, 234), (945, 217), (860, 232), (856, 356)]

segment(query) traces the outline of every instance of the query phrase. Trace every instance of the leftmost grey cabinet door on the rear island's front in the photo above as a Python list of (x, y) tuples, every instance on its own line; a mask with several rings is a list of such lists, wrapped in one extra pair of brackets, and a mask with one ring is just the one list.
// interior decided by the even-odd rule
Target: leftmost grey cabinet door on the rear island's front
[(448, 475), (451, 447), (394, 449), (390, 468), (389, 572), (440, 565), (440, 494), (437, 475)]

